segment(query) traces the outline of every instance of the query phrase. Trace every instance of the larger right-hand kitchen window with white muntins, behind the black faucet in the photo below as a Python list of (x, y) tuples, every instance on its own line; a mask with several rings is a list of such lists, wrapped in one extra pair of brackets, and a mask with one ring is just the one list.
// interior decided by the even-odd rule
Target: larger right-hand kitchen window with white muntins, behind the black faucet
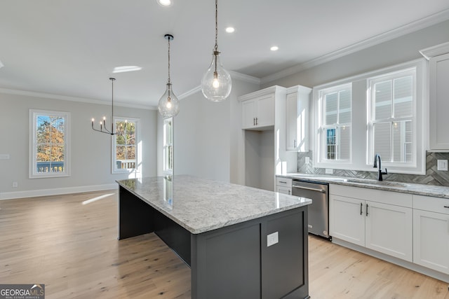
[(390, 165), (415, 165), (416, 69), (369, 78), (368, 87), (368, 162), (378, 153)]

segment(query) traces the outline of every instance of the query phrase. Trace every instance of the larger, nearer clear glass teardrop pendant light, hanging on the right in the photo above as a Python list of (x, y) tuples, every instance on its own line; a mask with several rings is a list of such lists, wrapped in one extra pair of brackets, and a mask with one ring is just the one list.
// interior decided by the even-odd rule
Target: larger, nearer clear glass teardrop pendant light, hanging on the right
[(212, 63), (201, 80), (201, 91), (206, 99), (213, 102), (220, 102), (226, 99), (231, 93), (231, 75), (223, 69), (220, 62), (220, 52), (218, 51), (218, 0), (215, 0), (215, 48), (212, 53)]

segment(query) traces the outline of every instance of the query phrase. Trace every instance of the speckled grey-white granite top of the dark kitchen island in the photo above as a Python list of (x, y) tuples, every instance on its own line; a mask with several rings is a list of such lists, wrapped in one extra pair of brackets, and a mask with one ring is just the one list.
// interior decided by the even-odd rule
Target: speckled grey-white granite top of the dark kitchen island
[(117, 183), (193, 234), (311, 204), (304, 197), (194, 176), (174, 176), (171, 203), (163, 199), (163, 176)]

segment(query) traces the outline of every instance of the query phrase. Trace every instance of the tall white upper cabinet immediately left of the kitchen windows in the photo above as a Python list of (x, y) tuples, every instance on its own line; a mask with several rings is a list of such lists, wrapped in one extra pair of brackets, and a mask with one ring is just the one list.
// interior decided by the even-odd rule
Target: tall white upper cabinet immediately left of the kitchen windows
[(286, 150), (309, 151), (309, 102), (311, 88), (293, 86), (287, 90)]

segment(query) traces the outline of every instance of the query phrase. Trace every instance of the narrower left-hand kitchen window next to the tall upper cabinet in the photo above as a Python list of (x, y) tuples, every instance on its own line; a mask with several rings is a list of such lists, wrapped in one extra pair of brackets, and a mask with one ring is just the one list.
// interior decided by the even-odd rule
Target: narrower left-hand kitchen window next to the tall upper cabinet
[(351, 84), (319, 90), (321, 162), (351, 160)]

